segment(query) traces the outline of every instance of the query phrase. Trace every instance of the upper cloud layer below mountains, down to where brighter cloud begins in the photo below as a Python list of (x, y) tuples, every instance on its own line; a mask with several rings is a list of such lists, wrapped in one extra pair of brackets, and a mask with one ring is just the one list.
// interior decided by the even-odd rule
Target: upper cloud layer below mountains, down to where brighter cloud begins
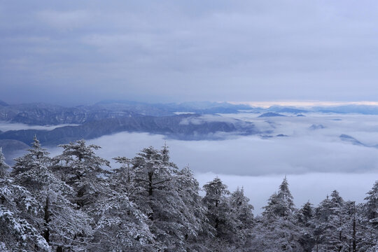
[[(167, 142), (174, 162), (181, 167), (189, 164), (195, 172), (244, 176), (378, 172), (377, 148), (356, 146), (339, 138), (347, 134), (366, 146), (377, 145), (378, 116), (314, 113), (305, 117), (258, 118), (256, 114), (241, 113), (222, 117), (225, 121), (237, 118), (252, 122), (263, 133), (230, 136), (223, 141), (180, 141), (162, 135), (121, 132), (90, 142), (102, 146), (99, 153), (106, 158), (131, 158), (141, 148), (160, 147)], [(201, 120), (222, 117), (203, 116)]]

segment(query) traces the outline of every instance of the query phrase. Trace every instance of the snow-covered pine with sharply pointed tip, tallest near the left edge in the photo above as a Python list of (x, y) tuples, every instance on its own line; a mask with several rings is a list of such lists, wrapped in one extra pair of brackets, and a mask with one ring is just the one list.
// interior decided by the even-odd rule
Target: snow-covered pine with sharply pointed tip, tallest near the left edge
[[(69, 201), (74, 195), (73, 189), (46, 167), (50, 158), (36, 137), (33, 147), (19, 159), (22, 162), (13, 173), (14, 183), (24, 186), (34, 196), (38, 203), (34, 221), (50, 246), (82, 248), (91, 233), (89, 218)], [(28, 169), (22, 169), (21, 164)]]

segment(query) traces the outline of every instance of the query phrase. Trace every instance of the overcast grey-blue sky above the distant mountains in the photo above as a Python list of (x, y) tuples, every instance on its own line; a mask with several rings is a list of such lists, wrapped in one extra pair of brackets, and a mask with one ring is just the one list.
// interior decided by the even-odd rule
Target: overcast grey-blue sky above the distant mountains
[(372, 101), (377, 1), (0, 1), (0, 99)]

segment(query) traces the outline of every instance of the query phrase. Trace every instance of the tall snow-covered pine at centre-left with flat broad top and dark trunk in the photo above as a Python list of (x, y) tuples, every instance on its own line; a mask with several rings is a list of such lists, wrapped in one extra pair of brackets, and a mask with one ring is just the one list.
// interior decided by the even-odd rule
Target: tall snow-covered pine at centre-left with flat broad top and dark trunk
[(161, 250), (185, 251), (188, 237), (199, 228), (191, 223), (193, 213), (186, 204), (189, 199), (180, 196), (179, 169), (169, 160), (167, 146), (161, 150), (144, 148), (132, 164), (135, 191), (130, 198), (148, 216), (156, 246)]

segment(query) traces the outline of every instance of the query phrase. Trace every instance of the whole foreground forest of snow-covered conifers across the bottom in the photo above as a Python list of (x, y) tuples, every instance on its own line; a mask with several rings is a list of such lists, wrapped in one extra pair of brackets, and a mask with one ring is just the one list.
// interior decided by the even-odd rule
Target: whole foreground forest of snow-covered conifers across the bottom
[(230, 192), (215, 178), (201, 189), (167, 146), (116, 157), (113, 169), (96, 155), (99, 146), (60, 147), (50, 157), (34, 137), (12, 168), (0, 151), (0, 251), (378, 249), (378, 181), (363, 204), (334, 190), (297, 208), (285, 177), (253, 216), (242, 187)]

